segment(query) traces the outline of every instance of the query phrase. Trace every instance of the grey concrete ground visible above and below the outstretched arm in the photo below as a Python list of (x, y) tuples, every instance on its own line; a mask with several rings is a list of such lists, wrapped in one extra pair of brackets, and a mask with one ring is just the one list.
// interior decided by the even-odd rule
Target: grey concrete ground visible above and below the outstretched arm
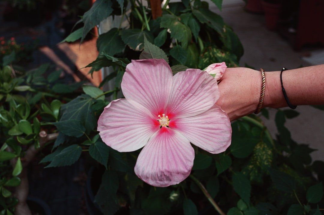
[[(288, 69), (297, 68), (301, 65), (310, 66), (324, 64), (324, 49), (316, 49), (309, 53), (307, 48), (300, 52), (295, 52), (292, 46), (280, 37), (277, 32), (269, 31), (265, 28), (263, 15), (250, 14), (244, 11), (244, 1), (242, 0), (224, 0), (223, 9), (219, 9), (210, 2), (210, 9), (224, 18), (240, 38), (244, 55), (240, 60), (240, 66), (247, 63), (256, 69), (264, 68), (266, 71), (280, 70), (282, 67)], [(303, 57), (305, 52), (313, 54)], [(303, 59), (308, 60), (304, 61)], [(309, 60), (310, 59), (310, 60)], [(324, 71), (323, 71), (324, 72)], [(324, 80), (321, 80), (324, 82)], [(275, 109), (269, 109), (270, 120), (265, 120), (265, 125), (269, 128), (271, 134), (277, 133), (274, 123)], [(296, 111), (300, 113), (294, 119), (288, 119), (286, 127), (290, 130), (292, 138), (298, 143), (309, 144), (311, 148), (318, 149), (312, 152), (314, 160), (324, 161), (324, 112), (311, 106), (298, 106)]]

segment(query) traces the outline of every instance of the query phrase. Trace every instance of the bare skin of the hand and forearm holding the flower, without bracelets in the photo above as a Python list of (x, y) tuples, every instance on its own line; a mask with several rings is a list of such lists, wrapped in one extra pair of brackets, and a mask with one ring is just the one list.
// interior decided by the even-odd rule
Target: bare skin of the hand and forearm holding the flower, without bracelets
[[(265, 94), (262, 108), (287, 107), (281, 89), (280, 71), (266, 72)], [(226, 68), (218, 84), (220, 98), (217, 105), (231, 121), (254, 113), (261, 92), (261, 72), (249, 68)], [(324, 104), (324, 64), (283, 72), (283, 85), (294, 105)]]

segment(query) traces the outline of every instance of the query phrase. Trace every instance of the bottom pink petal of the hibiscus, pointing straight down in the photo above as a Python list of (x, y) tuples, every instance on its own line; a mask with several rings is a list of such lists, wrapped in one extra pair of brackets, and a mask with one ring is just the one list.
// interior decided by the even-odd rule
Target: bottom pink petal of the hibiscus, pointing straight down
[(152, 186), (175, 185), (189, 176), (193, 159), (189, 140), (175, 130), (162, 127), (139, 154), (135, 173)]

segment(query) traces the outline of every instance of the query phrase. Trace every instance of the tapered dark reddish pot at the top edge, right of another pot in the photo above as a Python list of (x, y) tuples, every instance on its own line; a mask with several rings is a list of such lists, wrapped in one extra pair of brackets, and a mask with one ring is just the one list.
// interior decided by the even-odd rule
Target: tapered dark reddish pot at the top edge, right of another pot
[(267, 29), (276, 30), (277, 22), (280, 17), (281, 4), (269, 3), (262, 0), (262, 6), (265, 13), (265, 24)]

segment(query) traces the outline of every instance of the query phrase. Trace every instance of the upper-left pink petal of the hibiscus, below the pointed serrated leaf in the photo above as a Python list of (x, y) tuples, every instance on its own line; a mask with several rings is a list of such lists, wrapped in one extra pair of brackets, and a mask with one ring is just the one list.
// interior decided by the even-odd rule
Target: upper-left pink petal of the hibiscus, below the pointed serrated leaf
[(126, 99), (158, 115), (163, 111), (172, 87), (172, 71), (163, 59), (132, 60), (126, 66), (121, 89)]

